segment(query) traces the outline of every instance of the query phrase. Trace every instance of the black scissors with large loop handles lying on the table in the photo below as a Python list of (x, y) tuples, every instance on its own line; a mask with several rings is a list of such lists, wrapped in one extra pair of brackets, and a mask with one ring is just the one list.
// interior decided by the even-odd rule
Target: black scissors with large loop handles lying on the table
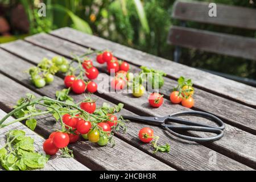
[[(195, 115), (197, 117), (207, 118), (217, 123), (218, 126), (204, 125), (201, 123), (189, 121), (187, 119), (177, 118), (181, 115)], [(127, 116), (127, 115), (123, 115), (122, 117), (123, 119), (129, 119), (131, 121), (139, 121), (139, 122), (148, 123), (150, 125), (162, 126), (172, 135), (175, 135), (176, 137), (179, 137), (185, 140), (190, 140), (193, 142), (213, 142), (215, 140), (218, 140), (223, 137), (224, 129), (225, 129), (225, 124), (224, 122), (221, 121), (220, 118), (217, 118), (215, 115), (201, 112), (201, 111), (184, 111), (180, 113), (170, 114), (166, 117), (143, 117), (143, 116)], [(171, 124), (171, 122), (179, 123), (182, 125), (174, 126)], [(206, 137), (206, 138), (190, 137), (187, 135), (177, 133), (176, 130), (201, 131), (201, 132), (207, 132), (207, 133), (214, 133), (217, 135), (215, 135), (214, 137)]]

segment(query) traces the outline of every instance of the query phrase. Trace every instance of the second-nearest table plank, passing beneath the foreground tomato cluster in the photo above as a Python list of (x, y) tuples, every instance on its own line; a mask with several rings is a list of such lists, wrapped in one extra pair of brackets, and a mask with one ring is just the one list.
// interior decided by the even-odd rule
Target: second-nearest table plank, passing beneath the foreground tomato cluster
[[(0, 54), (2, 55), (2, 53)], [(24, 97), (26, 93), (39, 96), (2, 74), (0, 74), (0, 78), (0, 85), (9, 85), (0, 91), (1, 109), (11, 110), (15, 102), (20, 97)], [(7, 91), (10, 88), (14, 90), (12, 93)], [(52, 131), (60, 128), (60, 124), (55, 123), (55, 119), (52, 117), (40, 116), (37, 120), (38, 126), (35, 131), (46, 138)], [(174, 168), (123, 142), (123, 140), (117, 137), (114, 137), (114, 139), (116, 142), (114, 148), (111, 146), (99, 147), (95, 143), (84, 141), (69, 144), (69, 147), (80, 163), (93, 170), (174, 170)]]

